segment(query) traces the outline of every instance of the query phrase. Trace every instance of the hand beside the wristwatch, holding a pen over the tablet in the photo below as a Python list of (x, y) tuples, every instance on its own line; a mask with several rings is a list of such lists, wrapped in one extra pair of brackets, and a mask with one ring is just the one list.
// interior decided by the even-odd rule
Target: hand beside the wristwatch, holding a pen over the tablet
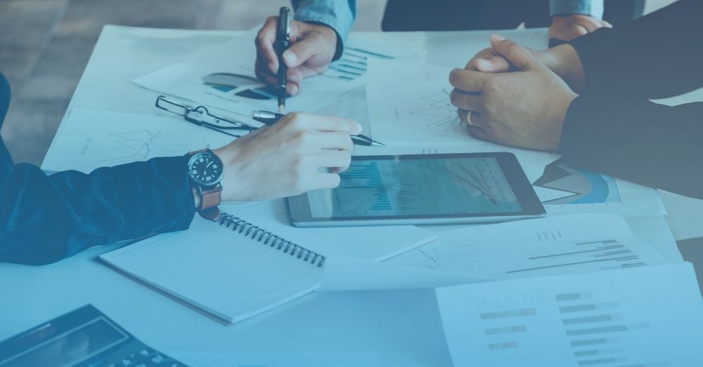
[[(292, 112), (214, 150), (224, 163), (223, 201), (276, 199), (340, 185), (361, 125)], [(331, 169), (328, 169), (331, 168)]]

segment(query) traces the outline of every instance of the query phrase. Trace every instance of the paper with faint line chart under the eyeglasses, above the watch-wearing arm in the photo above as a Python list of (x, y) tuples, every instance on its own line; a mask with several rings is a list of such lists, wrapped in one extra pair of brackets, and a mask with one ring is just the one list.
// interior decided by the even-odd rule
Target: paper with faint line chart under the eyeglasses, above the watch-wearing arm
[(205, 147), (219, 148), (233, 139), (178, 116), (72, 109), (41, 168), (89, 173), (103, 166), (157, 156), (182, 156)]

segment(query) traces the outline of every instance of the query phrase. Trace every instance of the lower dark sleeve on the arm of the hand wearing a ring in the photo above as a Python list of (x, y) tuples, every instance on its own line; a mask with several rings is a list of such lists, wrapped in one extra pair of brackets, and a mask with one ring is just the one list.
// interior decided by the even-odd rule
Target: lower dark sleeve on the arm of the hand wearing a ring
[(703, 199), (703, 103), (581, 95), (572, 102), (560, 151), (567, 164)]

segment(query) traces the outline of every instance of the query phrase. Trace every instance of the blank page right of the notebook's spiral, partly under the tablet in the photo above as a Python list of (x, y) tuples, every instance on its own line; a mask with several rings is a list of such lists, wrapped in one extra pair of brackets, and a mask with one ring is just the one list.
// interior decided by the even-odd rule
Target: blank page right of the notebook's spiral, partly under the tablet
[(380, 261), (437, 239), (436, 234), (412, 225), (293, 227), (285, 199), (223, 203), (220, 208), (327, 257)]

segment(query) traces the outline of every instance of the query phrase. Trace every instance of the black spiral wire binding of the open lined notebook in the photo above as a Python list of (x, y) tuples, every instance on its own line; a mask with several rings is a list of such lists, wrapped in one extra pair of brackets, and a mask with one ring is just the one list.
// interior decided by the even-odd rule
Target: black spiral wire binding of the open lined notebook
[(253, 225), (234, 215), (221, 213), (219, 218), (215, 221), (219, 222), (219, 225), (224, 225), (226, 228), (231, 227), (233, 231), (239, 232), (255, 241), (264, 243), (264, 245), (269, 245), (271, 248), (275, 247), (277, 251), (283, 250), (283, 253), (289, 253), (291, 256), (297, 253), (297, 258), (304, 262), (309, 262), (312, 265), (321, 267), (327, 259), (323, 255), (310, 251), (296, 243), (292, 243), (283, 237), (276, 236), (276, 234), (266, 231), (266, 229)]

